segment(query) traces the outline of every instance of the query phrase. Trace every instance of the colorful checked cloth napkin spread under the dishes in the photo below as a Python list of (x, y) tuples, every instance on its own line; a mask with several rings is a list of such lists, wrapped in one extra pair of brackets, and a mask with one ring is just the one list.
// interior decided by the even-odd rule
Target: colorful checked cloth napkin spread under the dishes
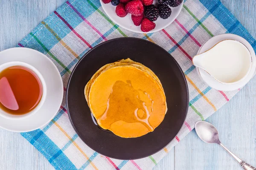
[(192, 57), (209, 38), (224, 33), (244, 37), (256, 50), (256, 41), (218, 0), (186, 0), (177, 19), (165, 29), (138, 34), (119, 27), (103, 11), (99, 0), (70, 0), (39, 24), (17, 46), (46, 54), (62, 76), (64, 91), (74, 65), (91, 48), (117, 37), (139, 37), (154, 42), (172, 54), (189, 85), (189, 111), (176, 138), (163, 150), (144, 159), (117, 160), (90, 149), (77, 136), (67, 116), (66, 96), (55, 118), (41, 129), (21, 133), (58, 170), (148, 170), (180, 139), (228, 102), (237, 92), (212, 89), (201, 81)]

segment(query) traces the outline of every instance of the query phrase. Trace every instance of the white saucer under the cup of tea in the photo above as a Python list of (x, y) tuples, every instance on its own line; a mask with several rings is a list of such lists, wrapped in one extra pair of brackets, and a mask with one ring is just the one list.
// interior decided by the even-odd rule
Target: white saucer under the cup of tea
[(63, 82), (54, 63), (44, 54), (30, 48), (9, 48), (0, 52), (0, 65), (11, 61), (26, 62), (44, 77), (47, 96), (38, 112), (15, 120), (0, 116), (0, 127), (14, 132), (28, 132), (47, 125), (58, 112), (63, 99)]

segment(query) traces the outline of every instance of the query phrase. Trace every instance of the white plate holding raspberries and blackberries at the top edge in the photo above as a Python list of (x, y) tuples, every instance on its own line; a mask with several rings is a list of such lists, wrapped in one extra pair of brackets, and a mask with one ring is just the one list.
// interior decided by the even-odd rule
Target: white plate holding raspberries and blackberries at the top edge
[(166, 28), (183, 6), (183, 0), (100, 0), (100, 3), (116, 24), (138, 33)]

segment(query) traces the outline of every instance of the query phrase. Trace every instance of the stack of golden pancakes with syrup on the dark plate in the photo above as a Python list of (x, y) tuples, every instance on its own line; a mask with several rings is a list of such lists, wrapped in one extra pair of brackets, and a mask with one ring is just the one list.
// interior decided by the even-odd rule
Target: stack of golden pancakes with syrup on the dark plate
[(167, 111), (158, 77), (131, 59), (100, 68), (85, 86), (84, 95), (98, 125), (123, 138), (152, 132)]

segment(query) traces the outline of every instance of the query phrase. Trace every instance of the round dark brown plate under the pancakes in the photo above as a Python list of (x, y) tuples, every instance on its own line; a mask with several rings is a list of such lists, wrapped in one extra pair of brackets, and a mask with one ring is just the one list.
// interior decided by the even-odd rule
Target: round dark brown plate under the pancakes
[[(138, 138), (121, 138), (97, 127), (84, 97), (84, 86), (99, 68), (126, 58), (154, 71), (163, 85), (168, 107), (163, 122)], [(186, 78), (175, 59), (160, 46), (137, 38), (108, 40), (91, 49), (76, 64), (67, 87), (67, 110), (76, 133), (90, 148), (115, 159), (140, 159), (163, 149), (180, 131), (188, 103)]]

